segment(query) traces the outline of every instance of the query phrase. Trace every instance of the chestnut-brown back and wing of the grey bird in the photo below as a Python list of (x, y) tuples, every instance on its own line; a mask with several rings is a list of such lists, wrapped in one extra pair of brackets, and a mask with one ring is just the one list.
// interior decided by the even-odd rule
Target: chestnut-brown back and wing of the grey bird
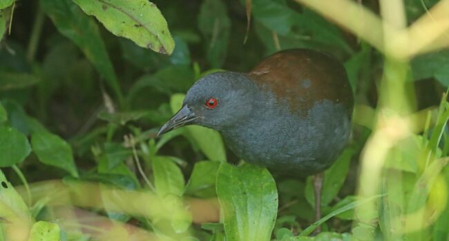
[(249, 78), (287, 99), (292, 110), (307, 111), (314, 103), (343, 103), (352, 112), (353, 97), (345, 68), (314, 50), (283, 50), (269, 56), (249, 72)]

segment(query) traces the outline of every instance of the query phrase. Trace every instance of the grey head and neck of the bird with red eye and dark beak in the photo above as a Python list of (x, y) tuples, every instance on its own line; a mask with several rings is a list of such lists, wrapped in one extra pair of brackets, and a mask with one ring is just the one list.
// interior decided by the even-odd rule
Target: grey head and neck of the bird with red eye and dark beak
[(218, 131), (236, 125), (250, 115), (255, 89), (246, 74), (216, 72), (204, 76), (190, 88), (181, 109), (157, 135), (184, 125), (201, 125)]

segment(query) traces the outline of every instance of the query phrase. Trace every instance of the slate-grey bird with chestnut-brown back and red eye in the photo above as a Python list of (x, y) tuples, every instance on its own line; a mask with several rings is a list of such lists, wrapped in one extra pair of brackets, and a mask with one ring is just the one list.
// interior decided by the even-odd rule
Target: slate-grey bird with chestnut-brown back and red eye
[(314, 176), (321, 216), (322, 171), (350, 136), (354, 105), (343, 65), (314, 50), (284, 50), (251, 72), (216, 72), (196, 82), (159, 131), (183, 125), (216, 129), (248, 163), (289, 176)]

